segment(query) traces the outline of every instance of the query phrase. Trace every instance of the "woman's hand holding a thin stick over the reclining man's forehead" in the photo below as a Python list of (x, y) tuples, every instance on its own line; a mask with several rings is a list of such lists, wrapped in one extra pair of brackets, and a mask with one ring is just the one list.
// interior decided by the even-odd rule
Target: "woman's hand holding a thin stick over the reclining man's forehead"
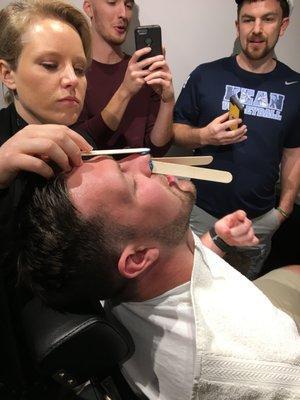
[(49, 161), (62, 171), (82, 163), (81, 151), (92, 146), (78, 133), (63, 125), (28, 125), (0, 147), (0, 188), (5, 188), (20, 171), (45, 178), (54, 175)]

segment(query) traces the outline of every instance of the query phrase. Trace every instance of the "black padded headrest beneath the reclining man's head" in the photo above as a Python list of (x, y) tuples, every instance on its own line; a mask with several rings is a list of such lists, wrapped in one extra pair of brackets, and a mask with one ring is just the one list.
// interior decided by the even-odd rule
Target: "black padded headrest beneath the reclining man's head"
[(100, 315), (60, 313), (37, 298), (26, 304), (23, 324), (40, 372), (70, 387), (105, 378), (134, 351), (121, 324)]

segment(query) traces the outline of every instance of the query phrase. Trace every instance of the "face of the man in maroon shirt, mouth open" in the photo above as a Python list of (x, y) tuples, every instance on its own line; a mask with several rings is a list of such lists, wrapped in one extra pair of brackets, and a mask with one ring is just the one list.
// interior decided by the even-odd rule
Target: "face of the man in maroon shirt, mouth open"
[(87, 0), (84, 10), (92, 27), (110, 45), (120, 45), (126, 38), (134, 0)]

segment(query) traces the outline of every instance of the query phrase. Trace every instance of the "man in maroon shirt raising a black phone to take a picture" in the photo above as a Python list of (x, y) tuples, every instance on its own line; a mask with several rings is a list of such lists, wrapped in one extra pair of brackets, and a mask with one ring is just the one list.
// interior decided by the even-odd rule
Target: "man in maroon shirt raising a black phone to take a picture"
[(91, 20), (93, 62), (85, 105), (76, 127), (100, 148), (150, 147), (163, 155), (172, 138), (174, 90), (164, 55), (139, 58), (150, 48), (124, 54), (134, 0), (85, 0)]

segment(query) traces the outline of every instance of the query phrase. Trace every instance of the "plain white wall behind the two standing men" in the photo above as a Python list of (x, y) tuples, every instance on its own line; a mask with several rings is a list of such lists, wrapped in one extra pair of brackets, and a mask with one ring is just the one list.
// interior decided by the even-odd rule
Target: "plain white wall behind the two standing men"
[[(176, 94), (188, 74), (200, 63), (232, 53), (235, 40), (234, 0), (135, 0), (135, 24), (159, 24), (167, 59), (173, 72)], [(9, 0), (0, 0), (1, 7)], [(72, 3), (81, 8), (82, 0)], [(277, 57), (300, 71), (300, 4), (295, 0), (291, 25), (276, 48)], [(125, 49), (133, 51), (133, 36)]]

